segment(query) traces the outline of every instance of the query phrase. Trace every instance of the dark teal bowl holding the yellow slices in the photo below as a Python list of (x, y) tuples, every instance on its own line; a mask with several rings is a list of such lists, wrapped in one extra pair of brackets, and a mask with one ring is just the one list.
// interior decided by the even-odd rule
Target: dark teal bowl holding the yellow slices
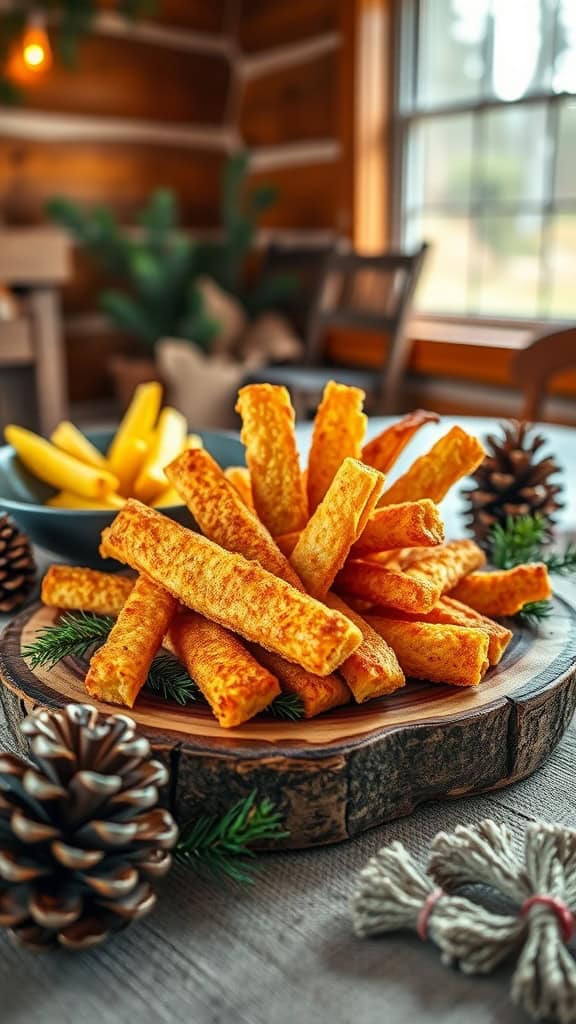
[[(216, 462), (227, 466), (244, 465), (244, 445), (231, 431), (200, 430), (204, 447)], [(87, 433), (100, 452), (106, 452), (112, 430)], [(8, 512), (34, 544), (57, 555), (65, 561), (91, 568), (120, 568), (117, 562), (98, 555), (100, 534), (109, 526), (116, 512), (113, 509), (53, 509), (44, 504), (55, 492), (37, 480), (23, 466), (14, 450), (0, 447), (0, 509)], [(195, 528), (195, 522), (183, 505), (163, 508), (165, 515), (176, 522)]]

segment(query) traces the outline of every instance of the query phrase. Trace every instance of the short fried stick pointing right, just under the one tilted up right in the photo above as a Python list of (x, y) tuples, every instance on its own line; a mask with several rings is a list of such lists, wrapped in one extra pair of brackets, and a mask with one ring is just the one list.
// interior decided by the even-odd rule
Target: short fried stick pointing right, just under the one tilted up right
[(431, 547), (444, 541), (444, 523), (429, 498), (401, 505), (385, 505), (372, 512), (353, 555), (395, 548)]

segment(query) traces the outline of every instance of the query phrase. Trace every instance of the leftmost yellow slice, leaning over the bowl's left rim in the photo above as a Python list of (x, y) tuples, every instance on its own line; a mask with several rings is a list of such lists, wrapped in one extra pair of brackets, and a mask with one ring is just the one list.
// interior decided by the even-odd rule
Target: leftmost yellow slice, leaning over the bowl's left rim
[(118, 479), (108, 470), (86, 466), (32, 430), (9, 424), (4, 436), (27, 469), (57, 490), (72, 490), (84, 498), (102, 498), (118, 490)]

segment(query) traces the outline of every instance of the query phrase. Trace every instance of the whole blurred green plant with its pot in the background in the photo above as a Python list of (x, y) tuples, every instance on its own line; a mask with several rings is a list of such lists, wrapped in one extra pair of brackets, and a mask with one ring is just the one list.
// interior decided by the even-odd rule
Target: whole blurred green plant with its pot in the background
[(109, 364), (123, 406), (136, 384), (158, 375), (158, 341), (177, 338), (204, 353), (221, 353), (249, 317), (273, 308), (292, 287), (284, 275), (265, 273), (255, 285), (246, 283), (258, 218), (276, 200), (268, 185), (247, 187), (248, 159), (240, 152), (224, 165), (221, 234), (213, 242), (184, 232), (176, 199), (165, 188), (151, 196), (132, 229), (121, 227), (107, 207), (84, 211), (60, 197), (48, 201), (48, 215), (117, 285), (100, 293), (100, 309), (138, 342), (140, 357), (115, 355)]

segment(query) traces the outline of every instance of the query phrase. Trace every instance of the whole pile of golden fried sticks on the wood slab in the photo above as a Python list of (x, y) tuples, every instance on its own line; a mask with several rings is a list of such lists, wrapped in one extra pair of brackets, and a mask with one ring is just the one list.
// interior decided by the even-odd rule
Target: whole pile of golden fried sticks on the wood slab
[(386, 474), (433, 414), (404, 417), (364, 444), (364, 393), (331, 382), (302, 472), (285, 388), (239, 393), (247, 467), (227, 470), (203, 449), (165, 468), (201, 532), (129, 500), (100, 551), (135, 580), (52, 566), (48, 605), (117, 616), (92, 655), (88, 693), (132, 707), (164, 645), (223, 727), (258, 714), (281, 690), (306, 717), (392, 693), (406, 676), (476, 686), (510, 631), (491, 615), (549, 597), (540, 564), (479, 571), (468, 540), (444, 543), (438, 509), (484, 458), (454, 427), (390, 486)]

